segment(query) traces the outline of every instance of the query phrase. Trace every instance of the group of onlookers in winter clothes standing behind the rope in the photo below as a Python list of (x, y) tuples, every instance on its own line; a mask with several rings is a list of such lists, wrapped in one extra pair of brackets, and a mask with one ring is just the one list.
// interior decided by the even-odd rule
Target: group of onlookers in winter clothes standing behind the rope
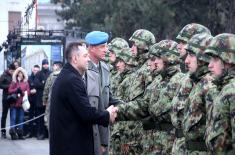
[[(53, 72), (49, 70), (47, 59), (42, 60), (42, 68), (34, 65), (32, 73), (26, 72), (20, 66), (18, 61), (10, 64), (8, 69), (0, 77), (0, 88), (2, 95), (2, 117), (1, 117), (1, 137), (6, 139), (6, 129), (9, 128), (9, 134), (12, 140), (36, 137), (38, 140), (48, 138), (47, 113), (44, 116), (45, 109), (48, 107), (48, 87), (51, 87), (52, 78), (60, 71), (63, 63), (55, 61), (53, 63)], [(49, 76), (49, 79), (47, 80)], [(44, 89), (45, 87), (45, 89)], [(27, 95), (30, 108), (24, 110), (22, 107), (23, 98)], [(7, 114), (10, 111), (10, 127), (6, 128)], [(41, 116), (36, 119), (36, 117)], [(35, 119), (35, 120), (34, 120)], [(25, 123), (25, 121), (29, 121)]]

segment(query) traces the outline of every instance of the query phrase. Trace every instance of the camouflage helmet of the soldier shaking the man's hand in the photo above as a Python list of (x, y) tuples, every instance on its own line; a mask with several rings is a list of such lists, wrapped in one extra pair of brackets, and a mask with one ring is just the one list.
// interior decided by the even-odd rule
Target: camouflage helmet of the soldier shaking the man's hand
[(180, 60), (180, 53), (177, 49), (177, 42), (173, 40), (162, 40), (150, 47), (150, 55), (166, 60), (170, 64), (175, 64)]

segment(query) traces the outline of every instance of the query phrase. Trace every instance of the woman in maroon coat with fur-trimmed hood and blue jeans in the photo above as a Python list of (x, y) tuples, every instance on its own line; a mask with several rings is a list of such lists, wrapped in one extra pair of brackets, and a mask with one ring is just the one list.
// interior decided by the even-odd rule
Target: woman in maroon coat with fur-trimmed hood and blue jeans
[[(10, 135), (11, 139), (24, 139), (23, 137), (23, 125), (14, 127), (16, 124), (20, 124), (24, 121), (24, 110), (22, 108), (23, 96), (26, 93), (30, 94), (28, 76), (26, 71), (19, 67), (15, 70), (12, 76), (12, 82), (8, 88), (9, 94), (16, 94), (16, 101), (10, 103)], [(18, 120), (18, 122), (17, 122)], [(17, 129), (17, 130), (16, 130)]]

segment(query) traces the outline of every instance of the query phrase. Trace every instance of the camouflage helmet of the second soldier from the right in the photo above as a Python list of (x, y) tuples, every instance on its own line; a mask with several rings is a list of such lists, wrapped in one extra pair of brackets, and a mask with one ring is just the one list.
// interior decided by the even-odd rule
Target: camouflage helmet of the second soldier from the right
[(185, 49), (188, 52), (194, 53), (199, 60), (209, 62), (209, 57), (205, 54), (205, 50), (212, 38), (207, 33), (196, 34), (188, 41)]

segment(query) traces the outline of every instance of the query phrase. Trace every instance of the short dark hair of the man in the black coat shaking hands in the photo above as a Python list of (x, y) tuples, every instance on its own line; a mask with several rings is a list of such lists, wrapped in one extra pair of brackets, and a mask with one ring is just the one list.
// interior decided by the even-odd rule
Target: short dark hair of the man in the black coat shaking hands
[(79, 42), (72, 42), (70, 43), (66, 50), (65, 50), (65, 58), (68, 62), (70, 62), (71, 60), (71, 56), (72, 56), (72, 53), (74, 51), (79, 51), (79, 46), (85, 46), (86, 44), (84, 43), (84, 41), (79, 41)]

